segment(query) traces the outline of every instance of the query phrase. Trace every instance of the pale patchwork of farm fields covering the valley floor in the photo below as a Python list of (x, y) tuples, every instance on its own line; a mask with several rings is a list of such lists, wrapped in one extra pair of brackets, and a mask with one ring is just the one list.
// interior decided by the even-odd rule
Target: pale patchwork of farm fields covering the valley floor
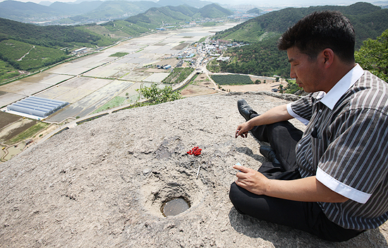
[[(171, 64), (171, 66), (174, 66), (178, 60), (176, 58), (166, 58), (178, 54), (181, 51), (180, 49), (193, 42), (198, 42), (202, 37), (212, 35), (218, 30), (231, 28), (232, 25), (235, 24), (226, 24), (214, 28), (174, 30), (133, 38), (96, 54), (54, 66), (34, 76), (0, 85), (0, 129), (4, 129), (5, 126), (13, 122), (18, 123), (18, 127), (14, 126), (13, 131), (0, 130), (4, 131), (4, 133), (1, 133), (0, 143), (8, 145), (12, 142), (20, 142), (25, 136), (32, 136), (34, 135), (32, 133), (39, 130), (41, 130), (40, 134), (43, 135), (42, 132), (47, 133), (45, 130), (51, 129), (51, 126), (47, 128), (46, 125), (42, 126), (40, 122), (35, 120), (22, 119), (22, 117), (2, 112), (6, 105), (30, 95), (69, 102), (70, 105), (63, 108), (63, 110), (44, 119), (44, 122), (62, 124), (70, 122), (76, 117), (86, 117), (104, 105), (105, 107), (113, 107), (134, 102), (139, 98), (135, 89), (149, 86), (152, 82), (161, 82), (169, 76), (169, 71), (148, 69), (145, 66), (150, 64)], [(20, 55), (18, 58), (21, 58), (32, 50), (33, 47), (25, 46), (18, 54), (13, 54), (13, 56), (18, 57)], [(32, 55), (34, 55), (33, 52), (31, 52)], [(41, 55), (35, 53), (34, 56)], [(122, 56), (116, 57), (118, 55)], [(0, 66), (6, 67), (6, 65)], [(8, 69), (12, 70), (11, 68)], [(196, 80), (198, 78), (200, 77), (197, 77)], [(214, 86), (211, 84), (210, 81), (198, 83), (195, 81), (195, 83), (184, 89), (186, 91), (183, 90), (183, 94), (190, 96), (216, 93), (213, 90)], [(163, 86), (160, 85), (160, 87)], [(13, 137), (15, 139), (11, 140)], [(39, 138), (33, 138), (34, 142)], [(9, 147), (6, 150), (8, 149), (12, 150), (13, 148)], [(11, 151), (8, 155), (16, 153), (17, 150)], [(5, 154), (4, 150), (2, 152), (0, 158)], [(7, 158), (11, 156), (8, 155)]]

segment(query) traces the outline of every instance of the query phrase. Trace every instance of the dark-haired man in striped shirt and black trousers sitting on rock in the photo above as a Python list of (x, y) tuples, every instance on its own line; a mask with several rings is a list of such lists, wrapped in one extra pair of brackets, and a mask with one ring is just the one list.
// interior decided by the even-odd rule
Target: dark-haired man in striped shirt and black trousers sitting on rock
[[(279, 39), (291, 78), (310, 95), (258, 115), (238, 110), (271, 147), (257, 171), (234, 165), (230, 199), (239, 213), (344, 241), (388, 219), (387, 83), (355, 63), (353, 26), (341, 13), (315, 12)], [(288, 122), (296, 118), (305, 132)]]

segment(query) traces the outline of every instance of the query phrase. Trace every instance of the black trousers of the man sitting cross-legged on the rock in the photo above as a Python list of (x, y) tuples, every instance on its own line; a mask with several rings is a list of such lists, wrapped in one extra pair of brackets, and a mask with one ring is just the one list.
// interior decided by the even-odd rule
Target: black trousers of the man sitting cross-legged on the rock
[[(301, 178), (295, 153), (296, 143), (303, 134), (301, 130), (296, 129), (290, 122), (278, 122), (255, 126), (251, 133), (259, 141), (268, 142), (274, 148), (280, 163), (263, 163), (259, 172), (270, 179)], [(257, 195), (238, 187), (235, 183), (231, 184), (229, 198), (239, 213), (310, 232), (323, 240), (346, 241), (363, 232), (341, 228), (332, 223), (316, 202), (290, 201)]]

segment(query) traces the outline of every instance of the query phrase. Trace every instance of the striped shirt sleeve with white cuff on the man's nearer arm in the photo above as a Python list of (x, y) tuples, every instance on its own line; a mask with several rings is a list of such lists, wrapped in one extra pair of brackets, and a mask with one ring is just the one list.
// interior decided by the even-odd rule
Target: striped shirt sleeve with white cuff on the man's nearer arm
[(348, 199), (365, 203), (388, 171), (387, 115), (348, 110), (329, 125), (329, 144), (317, 167), (317, 180)]

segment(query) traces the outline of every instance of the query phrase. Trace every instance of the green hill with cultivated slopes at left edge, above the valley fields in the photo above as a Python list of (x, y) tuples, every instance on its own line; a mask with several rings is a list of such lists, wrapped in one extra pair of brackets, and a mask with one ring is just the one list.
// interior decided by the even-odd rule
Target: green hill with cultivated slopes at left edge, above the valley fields
[(34, 71), (62, 61), (73, 47), (111, 45), (115, 41), (81, 27), (42, 27), (0, 18), (0, 83), (17, 76), (18, 70)]

